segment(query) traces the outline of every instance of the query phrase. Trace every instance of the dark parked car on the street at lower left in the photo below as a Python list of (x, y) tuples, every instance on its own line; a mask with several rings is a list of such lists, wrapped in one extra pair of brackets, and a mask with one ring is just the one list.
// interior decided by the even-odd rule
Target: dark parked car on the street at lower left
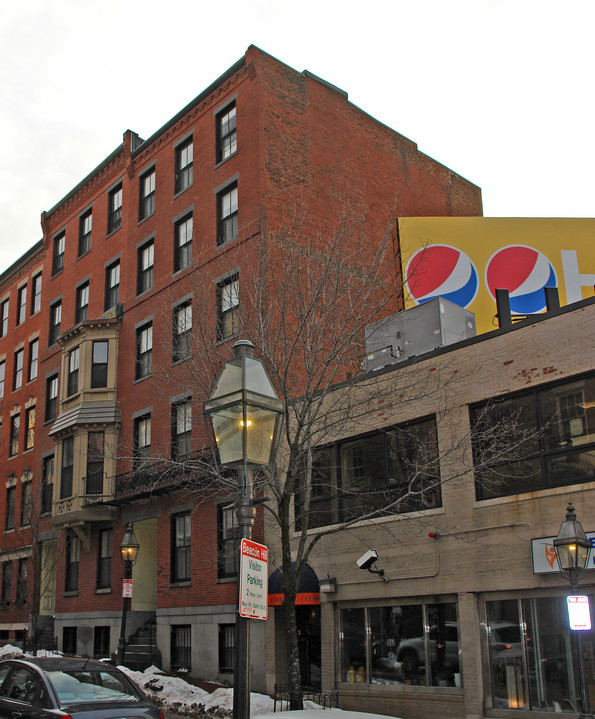
[(80, 657), (0, 662), (2, 719), (165, 719), (124, 672)]

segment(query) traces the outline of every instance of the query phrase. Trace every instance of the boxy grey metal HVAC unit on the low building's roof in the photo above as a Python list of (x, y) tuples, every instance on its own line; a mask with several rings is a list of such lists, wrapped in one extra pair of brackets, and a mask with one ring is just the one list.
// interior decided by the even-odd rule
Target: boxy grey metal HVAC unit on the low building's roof
[(366, 327), (364, 369), (380, 369), (476, 334), (473, 312), (435, 297)]

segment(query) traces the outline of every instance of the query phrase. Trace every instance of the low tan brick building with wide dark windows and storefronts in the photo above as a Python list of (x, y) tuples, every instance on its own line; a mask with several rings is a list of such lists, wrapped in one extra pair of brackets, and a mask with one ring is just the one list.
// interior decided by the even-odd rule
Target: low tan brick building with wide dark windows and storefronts
[[(342, 709), (408, 719), (581, 711), (565, 598), (588, 595), (593, 614), (595, 563), (571, 590), (553, 539), (572, 502), (595, 541), (594, 339), (592, 297), (415, 357), (394, 352), (326, 398), (336, 407), (346, 393), (370, 408), (326, 431), (307, 508), (311, 535), (356, 520), (316, 544), (305, 584), (317, 577), (320, 595), (298, 615), (302, 674), (338, 690)], [(271, 554), (275, 540), (267, 532)], [(371, 549), (382, 577), (358, 567)], [(282, 624), (275, 609), (276, 681)], [(592, 702), (595, 636), (582, 633)]]

